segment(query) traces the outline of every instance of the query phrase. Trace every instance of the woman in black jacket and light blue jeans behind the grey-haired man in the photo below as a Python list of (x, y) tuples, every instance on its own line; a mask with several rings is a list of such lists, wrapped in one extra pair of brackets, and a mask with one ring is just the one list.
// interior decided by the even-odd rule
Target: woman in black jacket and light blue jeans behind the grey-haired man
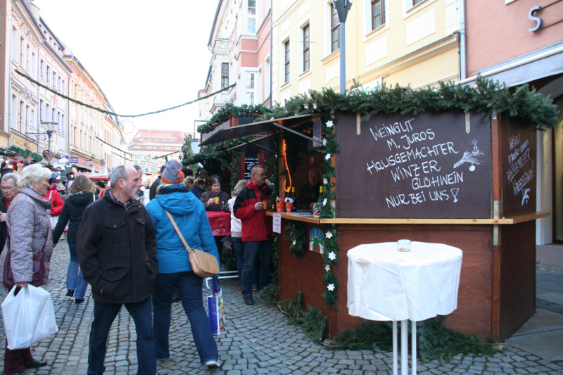
[[(94, 202), (94, 183), (88, 177), (80, 174), (68, 189), (68, 198), (63, 206), (63, 211), (58, 218), (57, 226), (53, 232), (53, 246), (58, 243), (66, 223), (68, 224), (67, 243), (70, 252), (70, 260), (68, 261), (68, 269), (66, 272), (66, 296), (71, 298), (74, 296), (75, 303), (84, 302), (84, 294), (88, 286), (82, 277), (82, 271), (78, 264), (78, 255), (76, 253), (76, 236), (78, 228), (82, 222), (82, 213), (88, 205)], [(76, 292), (76, 294), (75, 294)]]

